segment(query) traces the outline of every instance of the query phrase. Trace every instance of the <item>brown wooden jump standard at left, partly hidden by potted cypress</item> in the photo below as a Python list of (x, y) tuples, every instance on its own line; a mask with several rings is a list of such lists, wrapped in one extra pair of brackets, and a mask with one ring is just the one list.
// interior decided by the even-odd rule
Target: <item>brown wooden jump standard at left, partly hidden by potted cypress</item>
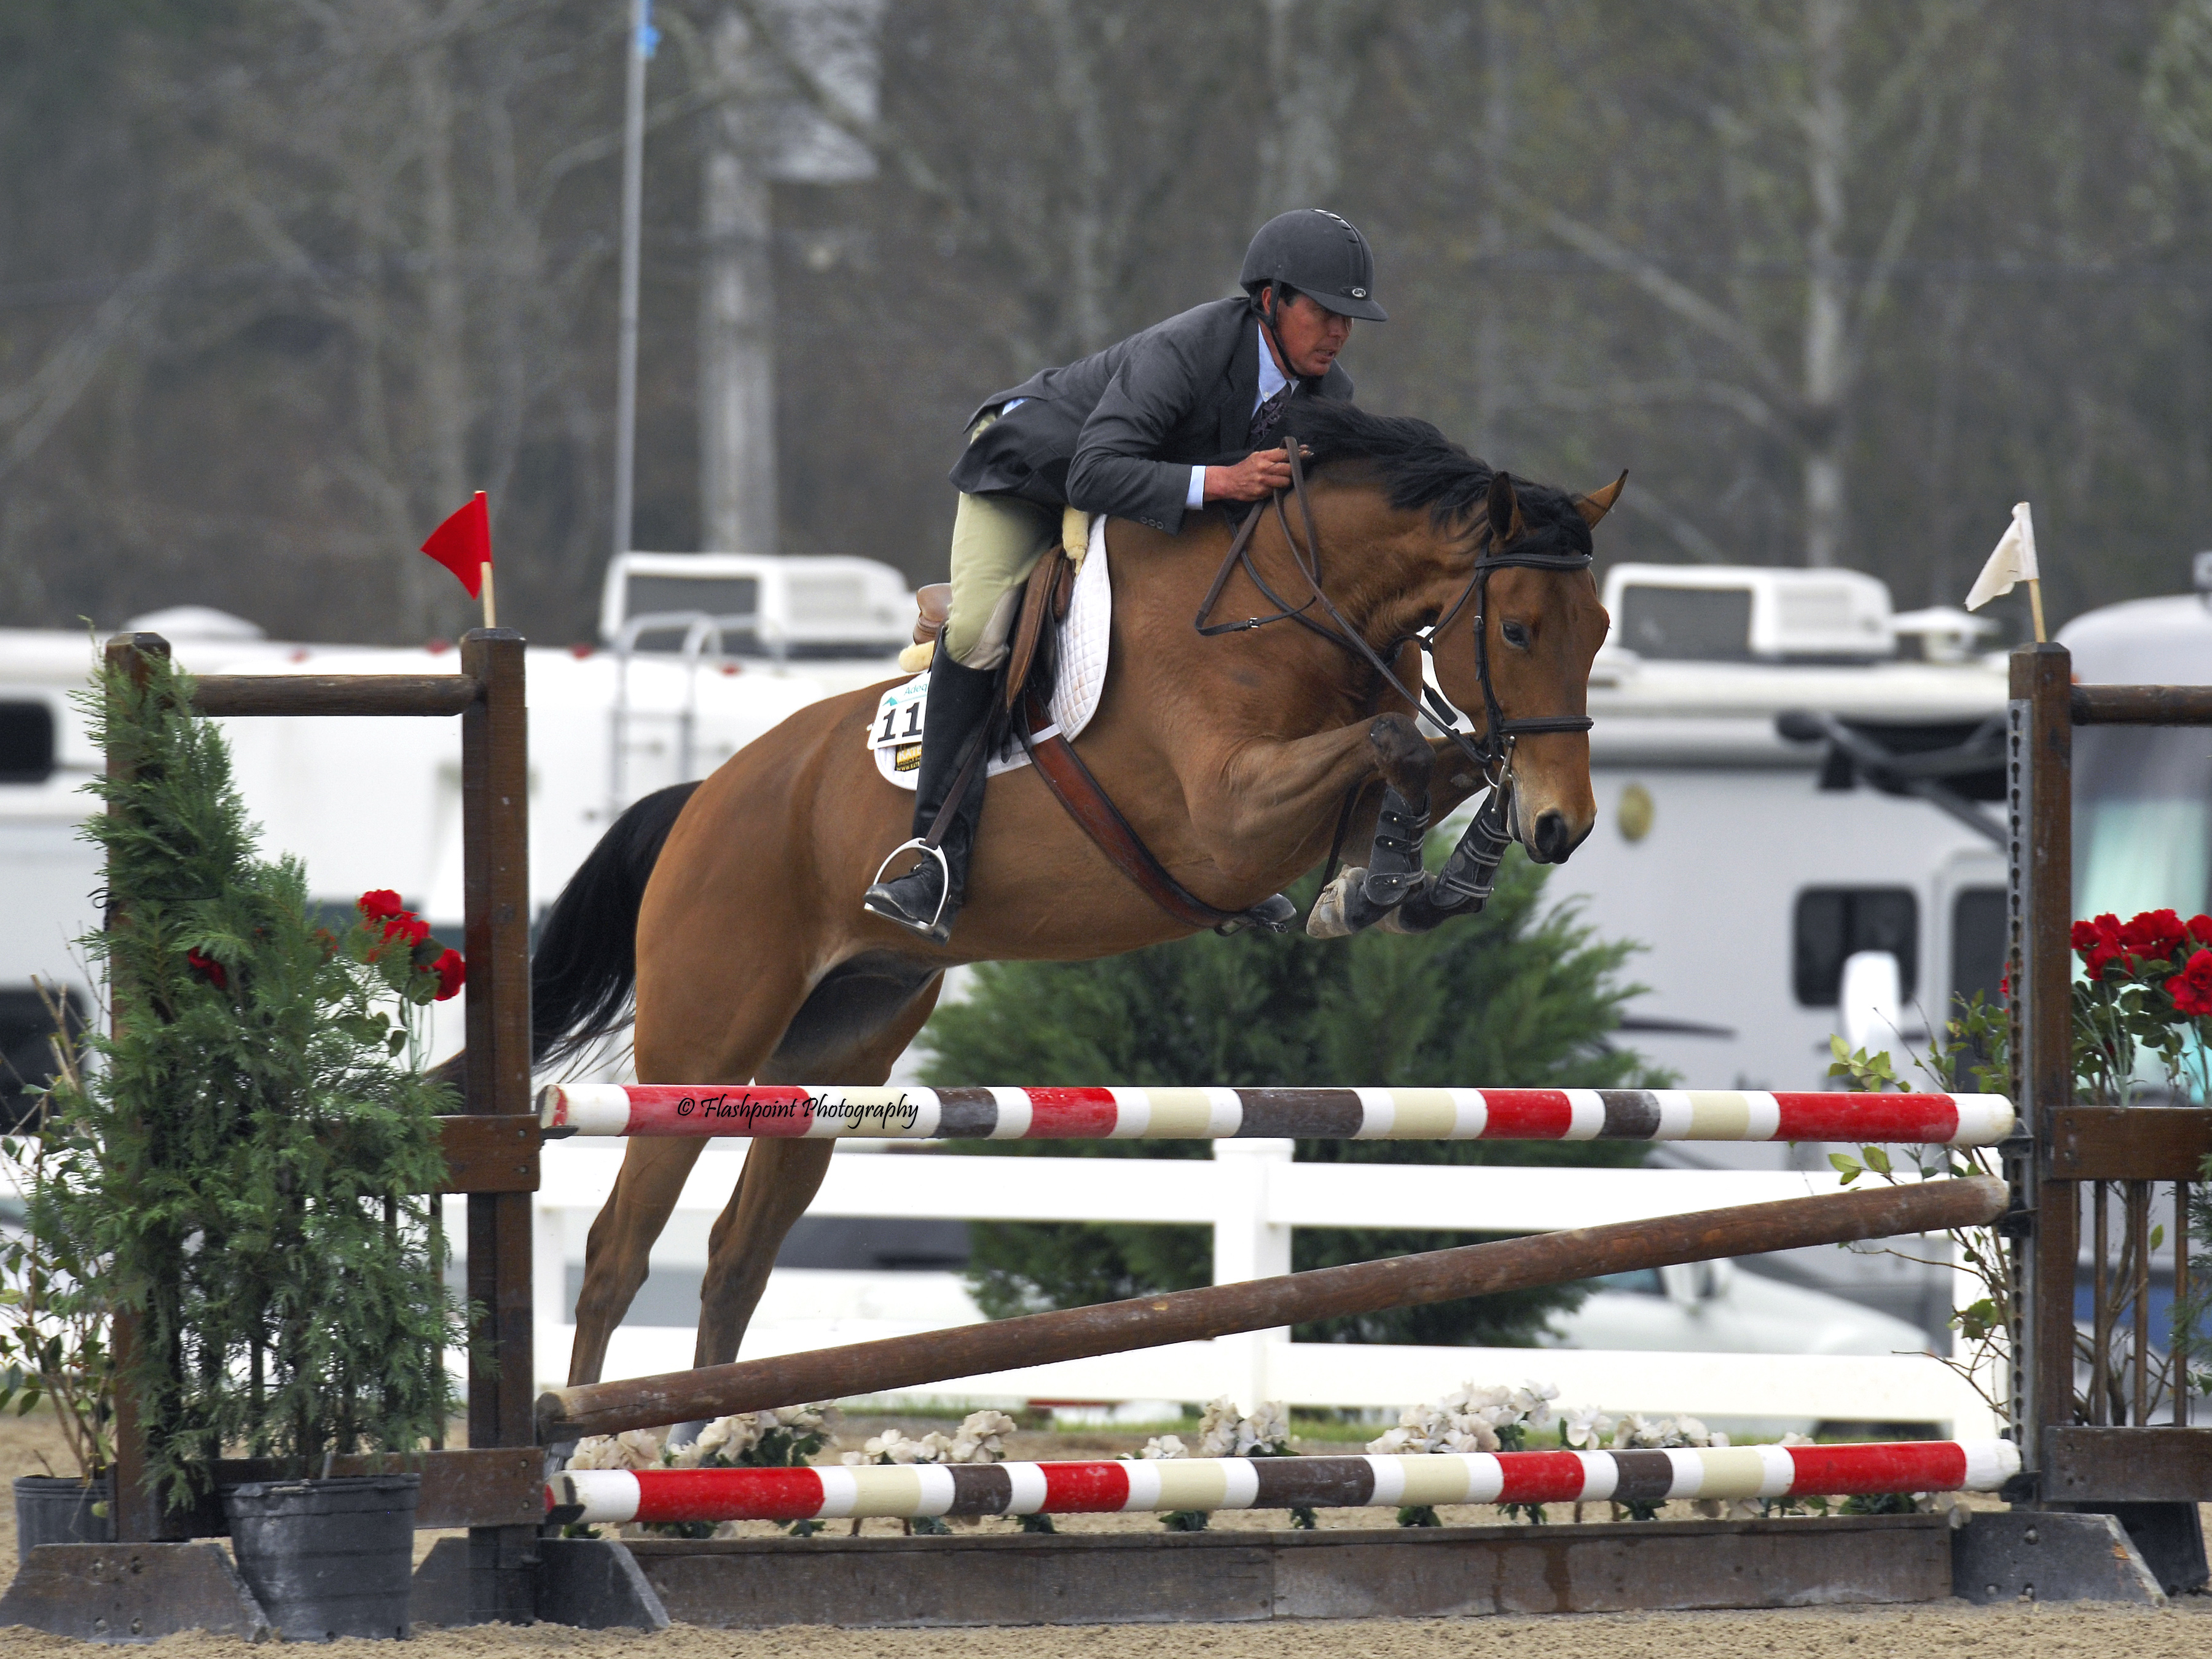
[[(422, 1455), (418, 1526), (469, 1528), (469, 1599), (480, 1619), (526, 1621), (535, 1610), (535, 1540), (544, 1520), (542, 1453), (531, 1420), (531, 1192), (538, 1119), (531, 1106), (529, 710), (522, 635), (462, 635), (458, 675), (206, 675), (192, 708), (246, 714), (460, 717), (465, 956), (469, 978), (465, 1113), (440, 1119), (447, 1179), (469, 1194), (469, 1301), (482, 1305), (469, 1349), (469, 1447)], [(159, 635), (117, 635), (108, 666), (142, 675), (166, 657)], [(111, 761), (113, 765), (113, 761)], [(122, 1011), (117, 1011), (122, 1018)], [(117, 1347), (133, 1338), (117, 1321)], [(489, 1363), (487, 1363), (489, 1360)], [(119, 1542), (228, 1533), (219, 1502), (164, 1509), (146, 1491), (146, 1447), (128, 1389), (115, 1402), (115, 1535)], [(365, 1473), (338, 1458), (334, 1473)], [(223, 1460), (219, 1484), (270, 1480), (274, 1462)]]

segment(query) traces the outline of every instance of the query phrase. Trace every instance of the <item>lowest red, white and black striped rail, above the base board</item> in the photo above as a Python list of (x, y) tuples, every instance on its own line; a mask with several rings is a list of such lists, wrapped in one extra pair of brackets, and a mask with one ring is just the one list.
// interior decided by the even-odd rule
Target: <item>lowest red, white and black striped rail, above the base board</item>
[(1577, 1504), (1670, 1498), (1863, 1498), (1997, 1491), (2011, 1440), (1679, 1451), (1473, 1451), (1400, 1458), (1170, 1458), (1115, 1462), (858, 1464), (816, 1469), (575, 1469), (546, 1520), (726, 1522), (922, 1515), (1115, 1515), (1170, 1509)]

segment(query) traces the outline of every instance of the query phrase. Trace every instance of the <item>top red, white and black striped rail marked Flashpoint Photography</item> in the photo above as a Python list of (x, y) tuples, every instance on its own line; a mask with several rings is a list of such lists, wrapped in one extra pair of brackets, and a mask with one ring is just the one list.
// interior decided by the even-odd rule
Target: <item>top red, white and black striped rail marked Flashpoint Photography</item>
[(2004, 1095), (1697, 1088), (830, 1088), (553, 1084), (544, 1135), (898, 1141), (1887, 1141), (1995, 1146)]

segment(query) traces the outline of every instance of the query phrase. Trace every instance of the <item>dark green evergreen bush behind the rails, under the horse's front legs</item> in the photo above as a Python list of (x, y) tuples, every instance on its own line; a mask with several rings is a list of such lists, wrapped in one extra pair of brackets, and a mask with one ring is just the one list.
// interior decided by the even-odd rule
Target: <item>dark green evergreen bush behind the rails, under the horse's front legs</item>
[[(1312, 878), (1305, 883), (1314, 887)], [(1310, 896), (1310, 891), (1307, 891)], [(1230, 1084), (1637, 1088), (1663, 1082), (1608, 1044), (1637, 987), (1635, 949), (1606, 945), (1573, 909), (1544, 911), (1544, 872), (1511, 856), (1489, 907), (1420, 938), (1343, 942), (1199, 933), (1102, 962), (984, 962), (967, 1002), (922, 1031), (929, 1084)], [(984, 1150), (984, 1148), (978, 1148)], [(1199, 1141), (1000, 1141), (1031, 1157), (1208, 1157)], [(1301, 1141), (1312, 1164), (1641, 1161), (1637, 1146)], [(1212, 1283), (1203, 1228), (975, 1223), (969, 1283), (993, 1318)], [(1296, 1267), (1475, 1234), (1301, 1228)], [(1582, 1290), (1509, 1292), (1298, 1327), (1303, 1340), (1524, 1345)]]

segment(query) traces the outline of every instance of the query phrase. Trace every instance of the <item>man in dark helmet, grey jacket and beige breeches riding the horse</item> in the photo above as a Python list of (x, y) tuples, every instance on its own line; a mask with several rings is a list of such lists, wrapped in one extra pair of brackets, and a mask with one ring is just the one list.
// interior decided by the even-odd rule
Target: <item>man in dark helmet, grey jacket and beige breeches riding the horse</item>
[[(1210, 502), (1256, 502), (1290, 484), (1267, 438), (1290, 398), (1352, 398), (1336, 354), (1352, 319), (1387, 321), (1374, 301), (1374, 254), (1349, 221), (1298, 208), (1261, 226), (1245, 252), (1243, 294), (1217, 299), (1062, 369), (995, 392), (969, 416), (951, 482), (951, 615), (929, 666), (916, 847), (947, 805), (991, 708), (995, 670), (1022, 582), (1060, 540), (1062, 509), (1133, 518), (1170, 535)], [(980, 768), (951, 803), (942, 865), (922, 849), (860, 900), (942, 945), (967, 891), (982, 816)], [(896, 854), (894, 854), (896, 858)]]

